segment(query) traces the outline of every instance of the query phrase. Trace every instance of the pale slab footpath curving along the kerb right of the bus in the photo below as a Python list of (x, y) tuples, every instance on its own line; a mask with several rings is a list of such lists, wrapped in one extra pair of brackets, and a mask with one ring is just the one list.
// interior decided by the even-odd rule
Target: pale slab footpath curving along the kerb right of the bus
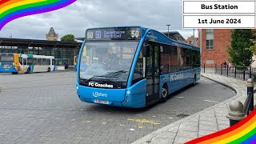
[[(230, 102), (238, 100), (242, 103), (246, 100), (246, 82), (235, 78), (227, 78), (218, 74), (202, 74), (206, 78), (234, 88), (237, 94), (224, 102), (190, 115), (178, 122), (174, 122), (162, 129), (156, 130), (146, 137), (139, 139), (134, 144), (170, 144), (189, 142), (206, 134), (212, 134), (230, 126), (228, 114)], [(254, 102), (256, 97), (254, 96)]]

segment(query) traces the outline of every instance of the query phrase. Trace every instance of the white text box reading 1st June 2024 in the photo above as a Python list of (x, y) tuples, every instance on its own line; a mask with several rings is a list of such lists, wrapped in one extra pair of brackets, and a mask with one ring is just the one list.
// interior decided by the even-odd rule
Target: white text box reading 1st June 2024
[[(218, 22), (218, 23), (215, 23)], [(184, 15), (183, 28), (254, 28), (255, 16)]]

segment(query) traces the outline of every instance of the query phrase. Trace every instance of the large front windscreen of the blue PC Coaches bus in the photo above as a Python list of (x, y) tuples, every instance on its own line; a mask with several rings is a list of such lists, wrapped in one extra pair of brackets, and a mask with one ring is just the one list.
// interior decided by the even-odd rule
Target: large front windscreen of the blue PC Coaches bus
[(126, 82), (138, 42), (88, 42), (82, 50), (80, 78)]

